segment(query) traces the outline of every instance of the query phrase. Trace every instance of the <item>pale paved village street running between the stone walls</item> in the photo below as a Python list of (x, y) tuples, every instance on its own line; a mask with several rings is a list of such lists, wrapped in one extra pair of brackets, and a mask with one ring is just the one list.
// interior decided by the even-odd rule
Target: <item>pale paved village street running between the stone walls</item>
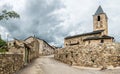
[(54, 60), (53, 56), (43, 56), (16, 74), (120, 74), (120, 69), (97, 70), (75, 68)]

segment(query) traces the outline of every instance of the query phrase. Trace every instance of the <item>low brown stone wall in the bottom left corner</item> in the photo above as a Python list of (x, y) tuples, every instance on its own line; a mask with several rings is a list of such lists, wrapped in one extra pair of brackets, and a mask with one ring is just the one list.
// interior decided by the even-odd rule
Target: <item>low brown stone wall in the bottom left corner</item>
[(0, 74), (14, 74), (22, 67), (22, 54), (0, 54)]

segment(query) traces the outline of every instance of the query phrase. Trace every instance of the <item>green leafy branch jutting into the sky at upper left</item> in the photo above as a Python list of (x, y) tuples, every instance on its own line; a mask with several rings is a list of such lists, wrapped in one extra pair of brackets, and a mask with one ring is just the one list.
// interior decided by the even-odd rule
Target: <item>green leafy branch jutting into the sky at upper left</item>
[(15, 11), (7, 11), (7, 10), (3, 10), (2, 13), (0, 13), (0, 20), (3, 19), (8, 20), (9, 18), (20, 18), (20, 15), (17, 14)]

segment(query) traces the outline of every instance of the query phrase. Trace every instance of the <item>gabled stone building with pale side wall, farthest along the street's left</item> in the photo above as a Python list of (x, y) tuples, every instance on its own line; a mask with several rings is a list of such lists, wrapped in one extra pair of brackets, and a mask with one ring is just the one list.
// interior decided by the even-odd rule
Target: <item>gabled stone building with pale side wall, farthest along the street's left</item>
[(34, 43), (33, 49), (36, 50), (36, 55), (50, 55), (54, 53), (54, 48), (45, 40), (30, 36), (25, 39), (25, 43)]

